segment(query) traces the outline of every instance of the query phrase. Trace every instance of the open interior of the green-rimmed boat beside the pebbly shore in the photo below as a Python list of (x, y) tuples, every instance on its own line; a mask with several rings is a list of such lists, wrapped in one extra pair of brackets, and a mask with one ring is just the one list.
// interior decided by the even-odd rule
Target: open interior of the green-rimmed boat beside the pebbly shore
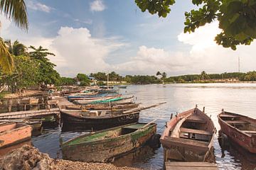
[(146, 125), (146, 123), (137, 123), (133, 125), (127, 125), (122, 128), (116, 128), (113, 130), (97, 132), (92, 135), (83, 135), (81, 137), (75, 138), (74, 140), (70, 140), (70, 142), (68, 142), (68, 145), (95, 142), (95, 141), (105, 140), (105, 139), (114, 138), (122, 135), (127, 135), (129, 133), (135, 132), (139, 128), (142, 128), (144, 125)]

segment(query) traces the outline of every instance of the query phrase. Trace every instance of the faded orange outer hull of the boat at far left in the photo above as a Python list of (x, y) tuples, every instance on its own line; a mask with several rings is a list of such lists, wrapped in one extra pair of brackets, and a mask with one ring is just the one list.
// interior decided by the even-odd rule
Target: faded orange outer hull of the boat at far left
[[(14, 123), (20, 127), (13, 127), (0, 133), (0, 148), (24, 142), (31, 139), (32, 127), (21, 123)], [(13, 124), (13, 125), (14, 125)]]

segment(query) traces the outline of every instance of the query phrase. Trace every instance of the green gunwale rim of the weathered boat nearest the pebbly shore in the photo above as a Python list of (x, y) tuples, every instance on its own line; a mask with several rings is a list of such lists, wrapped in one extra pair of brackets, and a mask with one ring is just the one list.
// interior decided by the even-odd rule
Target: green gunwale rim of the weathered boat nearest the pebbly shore
[[(78, 138), (87, 137), (87, 136), (90, 136), (90, 135), (96, 135), (96, 134), (98, 134), (98, 133), (107, 132), (107, 131), (110, 131), (110, 130), (116, 130), (116, 129), (119, 129), (119, 128), (124, 128), (124, 127), (126, 127), (126, 126), (129, 126), (129, 125), (136, 125), (136, 124), (144, 124), (144, 125), (146, 125), (147, 123), (131, 123), (131, 124), (127, 124), (127, 125), (117, 126), (117, 127), (114, 127), (114, 128), (108, 128), (108, 129), (105, 129), (105, 130), (99, 130), (99, 131), (97, 131), (97, 132), (90, 132), (90, 133), (88, 133), (88, 134), (80, 135), (80, 136), (75, 137), (75, 138), (73, 138), (73, 139), (70, 139), (70, 140), (68, 140), (68, 141), (66, 141), (66, 142), (63, 142), (63, 144), (62, 144), (60, 147), (61, 147), (61, 149), (63, 149), (63, 148), (70, 148), (70, 147), (77, 147), (77, 146), (80, 146), (80, 145), (84, 145), (85, 142), (78, 143), (78, 144), (75, 144), (75, 145), (68, 145), (68, 143), (70, 143), (70, 142), (72, 142), (72, 141), (74, 141), (74, 140), (77, 140)], [(92, 141), (92, 142), (87, 142), (86, 145), (93, 145), (93, 144), (95, 144), (95, 142), (96, 142), (96, 144), (105, 143), (105, 142), (110, 142), (110, 140), (112, 140), (112, 139), (117, 139), (117, 140), (119, 140), (119, 139), (125, 138), (125, 137), (127, 137), (128, 135), (131, 135), (131, 134), (133, 134), (133, 133), (134, 133), (134, 134), (135, 134), (135, 133), (138, 133), (139, 130), (140, 130), (140, 131), (142, 131), (142, 130), (147, 130), (147, 129), (152, 128), (152, 127), (154, 127), (154, 126), (156, 126), (156, 123), (151, 123), (151, 124), (147, 125), (147, 126), (144, 127), (144, 128), (138, 128), (138, 129), (135, 130), (134, 132), (130, 132), (130, 133), (127, 133), (127, 134), (124, 134), (124, 135), (119, 135), (119, 136), (117, 136), (117, 137), (110, 137), (110, 138), (103, 139), (103, 140), (96, 140), (96, 141)]]

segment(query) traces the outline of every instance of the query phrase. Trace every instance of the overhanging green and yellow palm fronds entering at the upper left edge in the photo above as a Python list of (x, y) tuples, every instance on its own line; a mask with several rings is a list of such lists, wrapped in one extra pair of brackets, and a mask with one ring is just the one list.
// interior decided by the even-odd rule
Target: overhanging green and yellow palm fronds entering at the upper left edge
[[(6, 18), (14, 21), (16, 26), (28, 30), (28, 14), (24, 0), (1, 0), (0, 11)], [(3, 39), (0, 39), (0, 65), (6, 72), (11, 72), (14, 68), (14, 60)]]

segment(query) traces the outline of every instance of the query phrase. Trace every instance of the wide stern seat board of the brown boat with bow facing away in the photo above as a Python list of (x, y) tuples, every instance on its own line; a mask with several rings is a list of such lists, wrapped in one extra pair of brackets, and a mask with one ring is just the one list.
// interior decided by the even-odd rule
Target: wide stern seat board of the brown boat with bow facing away
[(185, 138), (180, 138), (180, 137), (170, 137), (166, 136), (164, 137), (164, 140), (166, 140), (166, 143), (168, 145), (172, 146), (178, 146), (178, 147), (187, 147), (191, 149), (198, 149), (202, 151), (208, 151), (208, 145), (209, 142), (203, 142), (203, 141), (198, 141), (198, 140), (189, 140)]

